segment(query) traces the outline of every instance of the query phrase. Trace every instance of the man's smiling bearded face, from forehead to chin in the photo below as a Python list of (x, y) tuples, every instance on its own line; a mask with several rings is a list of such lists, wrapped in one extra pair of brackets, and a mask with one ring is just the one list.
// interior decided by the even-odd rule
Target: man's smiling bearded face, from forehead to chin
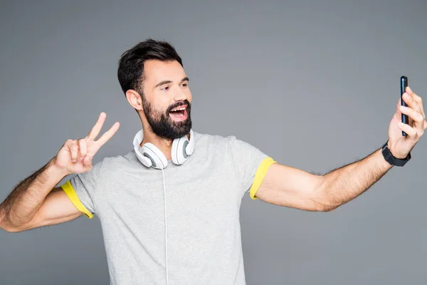
[(175, 139), (191, 129), (191, 92), (184, 68), (178, 61), (144, 63), (142, 108), (152, 132)]

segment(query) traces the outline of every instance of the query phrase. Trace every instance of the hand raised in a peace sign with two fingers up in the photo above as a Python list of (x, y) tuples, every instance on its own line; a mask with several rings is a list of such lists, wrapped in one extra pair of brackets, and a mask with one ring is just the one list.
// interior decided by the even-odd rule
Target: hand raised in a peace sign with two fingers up
[(105, 123), (107, 115), (102, 112), (85, 138), (78, 140), (67, 140), (60, 148), (54, 161), (55, 165), (68, 174), (82, 173), (92, 169), (92, 158), (95, 153), (117, 132), (120, 123), (116, 122), (110, 130), (107, 130), (98, 140), (95, 140)]

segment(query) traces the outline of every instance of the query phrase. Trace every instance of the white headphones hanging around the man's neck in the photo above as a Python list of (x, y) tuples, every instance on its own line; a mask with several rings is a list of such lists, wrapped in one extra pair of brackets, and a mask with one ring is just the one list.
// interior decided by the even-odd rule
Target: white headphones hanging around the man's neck
[[(139, 130), (133, 140), (133, 145), (138, 160), (146, 167), (153, 167), (156, 169), (164, 169), (167, 167), (167, 159), (163, 152), (160, 151), (159, 148), (157, 148), (151, 142), (144, 143), (144, 145), (140, 147), (143, 139), (144, 133), (142, 133), (142, 130)], [(172, 142), (172, 162), (174, 162), (176, 165), (183, 164), (189, 158), (189, 155), (193, 154), (194, 145), (195, 142), (193, 130), (190, 130), (190, 139), (188, 139), (186, 135), (181, 138), (176, 138)]]

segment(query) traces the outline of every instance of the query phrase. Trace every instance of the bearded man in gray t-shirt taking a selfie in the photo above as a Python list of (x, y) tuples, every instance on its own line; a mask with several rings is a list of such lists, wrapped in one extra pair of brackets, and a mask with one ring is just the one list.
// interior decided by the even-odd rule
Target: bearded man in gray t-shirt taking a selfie
[[(134, 149), (92, 165), (119, 128), (115, 123), (96, 139), (105, 122), (101, 113), (85, 138), (67, 140), (0, 207), (0, 226), (8, 232), (97, 214), (111, 284), (245, 284), (238, 216), (243, 195), (331, 211), (393, 165), (404, 165), (427, 128), (421, 98), (407, 88), (408, 107), (399, 100), (384, 147), (313, 175), (280, 165), (233, 136), (193, 132), (189, 78), (169, 43), (138, 43), (123, 53), (117, 75), (142, 123)], [(406, 125), (400, 123), (402, 113), (410, 118)]]

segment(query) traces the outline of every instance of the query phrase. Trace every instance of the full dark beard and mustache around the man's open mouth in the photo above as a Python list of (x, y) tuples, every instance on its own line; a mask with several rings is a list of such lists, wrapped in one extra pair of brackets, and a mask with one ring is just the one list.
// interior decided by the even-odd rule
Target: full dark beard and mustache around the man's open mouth
[[(172, 109), (181, 105), (186, 106), (187, 118), (180, 122), (174, 122), (170, 117), (169, 113)], [(166, 111), (155, 110), (151, 103), (146, 98), (142, 99), (142, 109), (144, 110), (145, 117), (147, 118), (149, 127), (152, 132), (159, 138), (174, 140), (181, 138), (188, 134), (191, 129), (191, 104), (188, 100), (176, 102), (170, 105)]]

